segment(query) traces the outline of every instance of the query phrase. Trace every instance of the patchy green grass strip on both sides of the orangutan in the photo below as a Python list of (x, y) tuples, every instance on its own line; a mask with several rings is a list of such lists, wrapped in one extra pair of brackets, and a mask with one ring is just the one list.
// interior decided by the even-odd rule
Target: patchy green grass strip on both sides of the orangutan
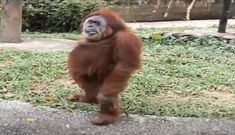
[[(143, 69), (123, 93), (132, 114), (235, 118), (235, 46), (214, 38), (145, 39)], [(69, 103), (67, 52), (0, 51), (0, 98), (35, 105), (94, 110)]]

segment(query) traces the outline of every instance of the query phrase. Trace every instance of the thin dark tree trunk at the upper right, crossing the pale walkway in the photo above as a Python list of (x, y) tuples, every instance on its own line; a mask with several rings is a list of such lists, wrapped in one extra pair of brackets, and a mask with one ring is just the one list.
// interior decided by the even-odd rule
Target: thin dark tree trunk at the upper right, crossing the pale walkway
[(219, 23), (219, 28), (218, 32), (219, 33), (225, 33), (226, 32), (226, 27), (227, 27), (227, 21), (228, 21), (228, 16), (230, 12), (230, 6), (231, 6), (232, 0), (224, 0), (224, 5), (223, 5), (223, 10), (220, 16), (220, 23)]

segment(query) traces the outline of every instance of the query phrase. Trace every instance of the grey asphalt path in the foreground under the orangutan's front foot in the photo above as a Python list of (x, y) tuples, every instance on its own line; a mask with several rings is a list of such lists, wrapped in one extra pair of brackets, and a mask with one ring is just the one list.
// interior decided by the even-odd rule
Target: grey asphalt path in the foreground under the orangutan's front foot
[(100, 127), (89, 122), (92, 116), (2, 101), (0, 135), (235, 135), (235, 121), (132, 115)]

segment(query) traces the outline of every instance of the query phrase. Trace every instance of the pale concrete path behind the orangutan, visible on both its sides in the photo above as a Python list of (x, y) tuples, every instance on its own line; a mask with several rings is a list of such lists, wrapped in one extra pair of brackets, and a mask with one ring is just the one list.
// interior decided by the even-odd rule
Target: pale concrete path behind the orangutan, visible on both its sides
[[(227, 33), (224, 34), (217, 33), (217, 28), (213, 28), (215, 26), (218, 26), (218, 23), (219, 20), (197, 20), (197, 21), (127, 23), (127, 25), (133, 29), (183, 27), (184, 30), (181, 31), (181, 33), (192, 34), (196, 36), (213, 35), (235, 40), (235, 19), (228, 20)], [(0, 49), (21, 49), (21, 50), (30, 50), (30, 51), (39, 51), (39, 52), (70, 51), (74, 46), (75, 46), (75, 41), (65, 40), (65, 39), (24, 39), (24, 42), (20, 44), (0, 43)]]

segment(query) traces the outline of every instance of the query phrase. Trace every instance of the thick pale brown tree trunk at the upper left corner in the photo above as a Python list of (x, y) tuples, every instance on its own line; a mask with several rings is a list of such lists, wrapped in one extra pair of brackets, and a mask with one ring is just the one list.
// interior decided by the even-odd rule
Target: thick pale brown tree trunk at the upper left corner
[(1, 0), (0, 42), (21, 42), (22, 1)]

